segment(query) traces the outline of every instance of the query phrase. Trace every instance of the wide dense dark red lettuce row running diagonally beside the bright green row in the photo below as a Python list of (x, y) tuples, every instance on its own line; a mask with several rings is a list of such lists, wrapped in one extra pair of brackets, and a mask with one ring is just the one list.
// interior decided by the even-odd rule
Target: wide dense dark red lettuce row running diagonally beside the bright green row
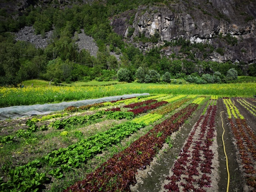
[(137, 169), (143, 170), (149, 165), (165, 139), (179, 127), (197, 109), (197, 104), (190, 104), (169, 119), (156, 125), (147, 134), (133, 142), (127, 149), (114, 155), (96, 171), (86, 176), (83, 181), (68, 187), (65, 192), (78, 191), (129, 191), (129, 185), (136, 183)]

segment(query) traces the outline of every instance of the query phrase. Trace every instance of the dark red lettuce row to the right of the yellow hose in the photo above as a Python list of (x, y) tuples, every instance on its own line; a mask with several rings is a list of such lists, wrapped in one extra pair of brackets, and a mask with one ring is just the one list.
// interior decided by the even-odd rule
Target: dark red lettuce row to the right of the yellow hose
[[(256, 169), (254, 167), (256, 165), (256, 135), (251, 128), (248, 127), (245, 119), (236, 119), (235, 121), (234, 123), (232, 119), (229, 119), (231, 130), (235, 136), (244, 172), (247, 174), (247, 184), (255, 190)], [(252, 161), (252, 159), (254, 161)]]

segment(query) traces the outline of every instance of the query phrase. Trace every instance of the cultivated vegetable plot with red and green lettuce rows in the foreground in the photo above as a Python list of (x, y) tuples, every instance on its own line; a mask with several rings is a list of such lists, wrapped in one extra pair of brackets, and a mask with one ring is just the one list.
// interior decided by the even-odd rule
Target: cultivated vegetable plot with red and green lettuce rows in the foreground
[(0, 121), (0, 191), (255, 191), (256, 99), (163, 87)]

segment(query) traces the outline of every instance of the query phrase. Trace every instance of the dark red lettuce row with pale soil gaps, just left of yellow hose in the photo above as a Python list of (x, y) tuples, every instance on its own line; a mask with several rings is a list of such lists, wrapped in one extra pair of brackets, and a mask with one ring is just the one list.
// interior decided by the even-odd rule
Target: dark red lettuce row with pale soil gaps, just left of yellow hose
[[(211, 177), (207, 174), (212, 173), (213, 151), (209, 148), (213, 144), (215, 136), (216, 111), (216, 105), (209, 106), (205, 115), (200, 116), (172, 168), (173, 175), (166, 178), (170, 182), (164, 186), (165, 189), (179, 192), (180, 185), (186, 192), (204, 192), (203, 187), (210, 186)], [(199, 127), (200, 131), (195, 136)], [(182, 182), (180, 182), (181, 180)]]

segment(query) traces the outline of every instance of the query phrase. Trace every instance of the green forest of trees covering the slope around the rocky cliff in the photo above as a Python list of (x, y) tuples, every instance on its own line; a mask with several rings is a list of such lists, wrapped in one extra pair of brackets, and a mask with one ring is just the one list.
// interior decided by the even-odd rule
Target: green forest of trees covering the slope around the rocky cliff
[[(120, 80), (120, 75), (118, 77), (117, 74), (120, 69), (129, 71), (129, 81), (137, 78), (138, 82), (158, 82), (156, 79), (159, 77), (162, 80), (168, 79), (169, 76), (170, 78), (188, 77), (187, 75), (201, 77), (203, 74), (213, 74), (217, 71), (226, 76), (231, 68), (235, 68), (238, 75), (256, 76), (256, 64), (245, 69), (242, 62), (219, 64), (195, 58), (195, 51), (201, 51), (204, 58), (214, 51), (214, 48), (208, 44), (192, 44), (185, 39), (165, 42), (164, 46), (181, 46), (180, 52), (187, 55), (185, 59), (178, 55), (167, 58), (160, 52), (162, 47), (155, 47), (143, 53), (132, 44), (124, 43), (123, 37), (112, 31), (109, 25), (110, 16), (136, 8), (139, 4), (150, 5), (154, 2), (165, 1), (107, 0), (105, 5), (94, 1), (91, 5), (74, 5), (64, 10), (51, 6), (35, 8), (31, 5), (16, 19), (1, 8), (0, 86), (16, 85), (29, 79), (53, 80), (55, 83), (93, 79)], [(53, 40), (44, 49), (35, 48), (29, 42), (16, 41), (12, 32), (17, 32), (25, 26), (33, 26), (35, 33), (41, 34), (42, 37), (46, 32), (53, 30)], [(86, 50), (79, 51), (73, 37), (75, 32), (81, 32), (81, 29), (96, 41), (99, 47), (96, 57), (91, 56)], [(143, 38), (143, 34), (138, 37), (140, 40)], [(157, 42), (157, 39), (158, 36), (155, 35), (151, 40)], [(121, 61), (117, 61), (110, 51), (121, 54)], [(138, 78), (139, 74), (142, 75), (142, 79)], [(221, 75), (217, 74), (216, 78), (218, 76), (223, 80)]]

